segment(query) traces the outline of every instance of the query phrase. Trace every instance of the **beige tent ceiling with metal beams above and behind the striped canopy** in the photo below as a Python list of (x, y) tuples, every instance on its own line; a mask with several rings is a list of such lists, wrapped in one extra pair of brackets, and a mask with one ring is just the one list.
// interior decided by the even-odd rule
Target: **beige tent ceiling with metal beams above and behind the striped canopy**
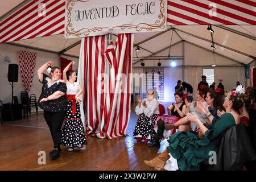
[[(0, 1), (0, 17), (5, 15), (10, 10), (19, 6), (20, 3), (24, 3), (26, 1), (16, 0), (16, 1)], [(206, 40), (211, 41), (210, 32), (207, 30), (207, 26), (172, 26), (176, 28), (172, 37), (172, 44), (179, 43), (181, 39), (191, 42), (197, 46), (203, 47), (212, 51), (210, 48), (211, 42), (207, 42)], [(255, 26), (224, 26), (228, 28), (232, 28), (242, 34), (250, 35), (251, 38), (255, 38), (256, 36), (256, 28)], [(148, 32), (148, 33), (138, 33), (134, 36), (134, 44), (138, 44), (143, 42), (143, 40), (150, 39), (144, 43), (139, 44), (141, 50), (137, 53), (134, 46), (134, 57), (137, 55), (141, 56), (149, 56), (154, 55), (154, 53), (158, 52), (156, 56), (168, 56), (169, 48), (171, 43), (171, 26), (167, 26), (166, 32)], [(213, 40), (214, 46), (216, 47), (216, 52), (220, 55), (224, 55), (226, 57), (230, 57), (230, 59), (237, 60), (244, 64), (249, 64), (256, 57), (256, 40), (247, 38), (246, 36), (235, 34), (234, 32), (224, 30), (223, 28), (212, 26), (214, 30)], [(168, 30), (170, 29), (170, 30)], [(180, 31), (179, 31), (180, 30)], [(182, 31), (182, 32), (181, 32)], [(191, 35), (188, 35), (184, 32), (188, 32)], [(160, 35), (159, 35), (160, 34)], [(179, 34), (179, 35), (177, 35)], [(159, 35), (159, 36), (157, 36)], [(196, 36), (196, 37), (195, 37)], [(202, 38), (202, 39), (200, 39)], [(66, 48), (72, 47), (65, 51), (69, 55), (79, 56), (80, 52), (80, 44), (76, 45), (75, 43), (79, 42), (81, 38), (76, 39), (65, 39), (64, 35), (53, 35), (49, 37), (43, 38), (34, 38), (28, 40), (20, 40), (18, 44), (22, 44), (23, 46), (30, 46), (40, 49), (46, 49), (52, 52), (61, 52)], [(75, 44), (76, 46), (72, 46)], [(222, 46), (221, 46), (222, 45)], [(176, 45), (177, 46), (177, 45)], [(175, 47), (176, 47), (175, 46)], [(181, 46), (179, 46), (181, 47)], [(166, 49), (164, 49), (166, 48)], [(182, 47), (181, 47), (182, 48)], [(230, 48), (230, 49), (229, 49)], [(159, 50), (163, 50), (159, 52)], [(171, 49), (172, 56), (181, 56), (179, 55), (182, 51), (176, 51), (177, 47)], [(236, 50), (238, 52), (236, 52)], [(186, 50), (185, 50), (186, 51)]]

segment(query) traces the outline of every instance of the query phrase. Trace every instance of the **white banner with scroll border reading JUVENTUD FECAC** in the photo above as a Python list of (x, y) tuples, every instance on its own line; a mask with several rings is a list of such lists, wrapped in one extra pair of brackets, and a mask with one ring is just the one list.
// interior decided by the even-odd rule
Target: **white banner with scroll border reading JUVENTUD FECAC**
[(65, 38), (166, 30), (167, 0), (66, 0)]

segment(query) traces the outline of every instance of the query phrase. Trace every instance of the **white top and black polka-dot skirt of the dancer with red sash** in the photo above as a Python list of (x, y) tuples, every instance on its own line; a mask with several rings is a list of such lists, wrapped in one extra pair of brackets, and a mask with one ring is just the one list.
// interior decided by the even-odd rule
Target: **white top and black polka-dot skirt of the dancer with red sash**
[[(76, 95), (79, 92), (79, 82), (71, 84), (67, 81), (67, 95)], [(69, 147), (82, 147), (87, 144), (84, 124), (81, 121), (80, 105), (76, 102), (76, 113), (72, 114), (72, 103), (68, 101), (68, 110), (61, 129), (61, 144)]]

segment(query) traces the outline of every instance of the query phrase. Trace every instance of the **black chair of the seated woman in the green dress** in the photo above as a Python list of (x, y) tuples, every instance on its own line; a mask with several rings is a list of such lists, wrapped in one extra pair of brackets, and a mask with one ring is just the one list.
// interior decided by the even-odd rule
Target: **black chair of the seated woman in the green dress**
[(246, 162), (256, 159), (254, 148), (242, 124), (221, 134), (221, 143), (216, 153), (217, 164), (209, 165), (208, 161), (204, 161), (200, 163), (201, 171), (240, 171)]

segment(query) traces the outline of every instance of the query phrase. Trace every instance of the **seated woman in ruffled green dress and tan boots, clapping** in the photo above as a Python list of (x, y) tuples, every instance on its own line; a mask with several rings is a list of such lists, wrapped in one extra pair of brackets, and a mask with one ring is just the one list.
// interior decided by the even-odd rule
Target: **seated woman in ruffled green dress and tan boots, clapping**
[(211, 125), (205, 127), (195, 114), (188, 113), (188, 119), (199, 125), (200, 130), (204, 134), (203, 137), (193, 132), (178, 131), (169, 139), (169, 146), (159, 156), (152, 160), (144, 160), (147, 166), (154, 167), (157, 170), (166, 169), (174, 171), (199, 170), (200, 163), (209, 160), (210, 151), (216, 151), (221, 141), (221, 134), (232, 126), (240, 123), (240, 109), (243, 102), (240, 98), (241, 94), (233, 91), (225, 98), (224, 107), (226, 113), (221, 115), (219, 119), (215, 119), (209, 112), (208, 108), (203, 104), (199, 107), (207, 115), (212, 122)]

